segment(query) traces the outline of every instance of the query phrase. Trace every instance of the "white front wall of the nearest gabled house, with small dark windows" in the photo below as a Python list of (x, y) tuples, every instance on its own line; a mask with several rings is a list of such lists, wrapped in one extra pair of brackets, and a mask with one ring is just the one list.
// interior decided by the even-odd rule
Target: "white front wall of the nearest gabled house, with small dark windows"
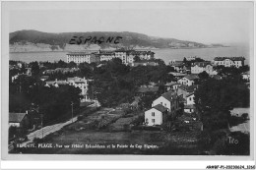
[(162, 113), (155, 108), (151, 108), (145, 112), (145, 124), (147, 126), (161, 125), (162, 120)]

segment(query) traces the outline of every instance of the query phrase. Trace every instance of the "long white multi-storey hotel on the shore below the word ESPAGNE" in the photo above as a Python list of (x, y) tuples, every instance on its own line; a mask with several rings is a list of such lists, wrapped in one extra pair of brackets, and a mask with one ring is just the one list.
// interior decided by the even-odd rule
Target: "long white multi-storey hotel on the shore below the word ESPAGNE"
[(67, 54), (67, 63), (75, 62), (80, 63), (96, 63), (100, 61), (109, 61), (113, 58), (119, 58), (122, 60), (123, 64), (133, 64), (135, 62), (134, 58), (138, 56), (141, 60), (154, 59), (155, 53), (152, 51), (136, 51), (136, 50), (126, 50), (118, 49), (113, 51), (102, 51), (97, 52), (71, 52)]

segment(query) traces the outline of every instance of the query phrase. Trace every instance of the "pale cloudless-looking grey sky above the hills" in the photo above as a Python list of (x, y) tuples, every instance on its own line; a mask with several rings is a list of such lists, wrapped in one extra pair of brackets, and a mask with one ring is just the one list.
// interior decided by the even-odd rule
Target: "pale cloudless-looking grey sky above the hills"
[(10, 32), (133, 31), (203, 43), (248, 42), (250, 2), (79, 2), (14, 4)]

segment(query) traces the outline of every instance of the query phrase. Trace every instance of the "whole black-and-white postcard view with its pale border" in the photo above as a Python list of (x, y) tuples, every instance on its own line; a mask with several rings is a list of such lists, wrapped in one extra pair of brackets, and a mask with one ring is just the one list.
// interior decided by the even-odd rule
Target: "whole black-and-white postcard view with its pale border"
[(8, 155), (254, 154), (253, 2), (2, 5)]

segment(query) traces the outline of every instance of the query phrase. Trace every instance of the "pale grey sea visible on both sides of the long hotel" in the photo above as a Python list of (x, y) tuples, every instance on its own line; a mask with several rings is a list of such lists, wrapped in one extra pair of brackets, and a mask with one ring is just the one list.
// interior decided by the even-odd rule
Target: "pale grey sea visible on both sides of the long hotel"
[[(196, 56), (205, 60), (212, 61), (215, 57), (245, 57), (245, 64), (249, 64), (250, 48), (247, 46), (228, 46), (216, 48), (193, 48), (193, 49), (153, 49), (155, 57), (162, 59), (166, 64), (170, 60), (182, 61), (184, 57)], [(59, 60), (66, 61), (68, 52), (16, 52), (9, 53), (9, 59), (30, 63), (37, 62), (55, 62)]]

